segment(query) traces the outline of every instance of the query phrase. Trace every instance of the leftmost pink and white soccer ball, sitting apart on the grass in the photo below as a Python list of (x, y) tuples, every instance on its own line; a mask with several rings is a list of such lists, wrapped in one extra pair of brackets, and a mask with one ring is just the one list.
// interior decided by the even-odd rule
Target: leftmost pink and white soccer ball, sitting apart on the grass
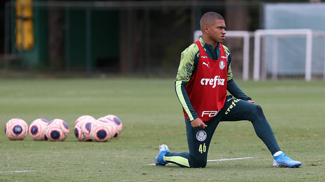
[(28, 133), (28, 125), (20, 118), (10, 119), (6, 124), (5, 133), (10, 140), (24, 140)]

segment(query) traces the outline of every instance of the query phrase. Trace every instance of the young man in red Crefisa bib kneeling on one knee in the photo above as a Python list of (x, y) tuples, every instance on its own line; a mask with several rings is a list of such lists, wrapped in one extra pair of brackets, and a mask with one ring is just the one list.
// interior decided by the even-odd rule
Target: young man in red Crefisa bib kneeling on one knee
[[(301, 162), (281, 151), (261, 106), (255, 105), (234, 81), (230, 51), (221, 44), (226, 34), (223, 17), (208, 12), (202, 16), (200, 26), (202, 37), (182, 52), (175, 80), (189, 152), (174, 153), (160, 145), (155, 164), (205, 167), (219, 122), (248, 120), (273, 155), (273, 167), (299, 167)], [(227, 96), (227, 90), (231, 95)]]

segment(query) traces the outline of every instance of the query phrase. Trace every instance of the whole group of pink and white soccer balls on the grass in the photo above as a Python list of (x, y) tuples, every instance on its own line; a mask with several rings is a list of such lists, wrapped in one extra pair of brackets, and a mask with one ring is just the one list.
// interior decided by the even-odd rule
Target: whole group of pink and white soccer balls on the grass
[[(107, 115), (95, 119), (89, 115), (80, 116), (75, 122), (75, 135), (79, 141), (106, 142), (120, 134), (122, 122), (115, 115)], [(69, 126), (62, 119), (50, 122), (39, 118), (31, 122), (28, 130), (27, 123), (20, 118), (9, 120), (5, 133), (10, 140), (23, 140), (27, 132), (36, 141), (64, 141), (69, 134)]]

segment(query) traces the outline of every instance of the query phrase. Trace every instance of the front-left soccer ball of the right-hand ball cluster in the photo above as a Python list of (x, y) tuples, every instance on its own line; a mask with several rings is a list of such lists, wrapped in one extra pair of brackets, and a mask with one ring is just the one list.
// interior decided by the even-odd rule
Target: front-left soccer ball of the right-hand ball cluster
[(75, 124), (75, 135), (79, 141), (91, 141), (90, 138), (95, 120), (95, 118), (90, 116)]

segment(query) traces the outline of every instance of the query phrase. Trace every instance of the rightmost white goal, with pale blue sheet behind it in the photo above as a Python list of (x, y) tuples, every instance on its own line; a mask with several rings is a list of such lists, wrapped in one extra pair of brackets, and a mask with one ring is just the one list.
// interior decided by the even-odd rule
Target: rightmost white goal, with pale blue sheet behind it
[[(279, 64), (284, 65), (282, 70)], [(279, 74), (304, 75), (306, 81), (313, 75), (322, 75), (325, 79), (325, 32), (312, 29), (256, 30), (253, 69), (255, 81), (266, 79), (268, 74), (272, 79), (277, 79)]]

